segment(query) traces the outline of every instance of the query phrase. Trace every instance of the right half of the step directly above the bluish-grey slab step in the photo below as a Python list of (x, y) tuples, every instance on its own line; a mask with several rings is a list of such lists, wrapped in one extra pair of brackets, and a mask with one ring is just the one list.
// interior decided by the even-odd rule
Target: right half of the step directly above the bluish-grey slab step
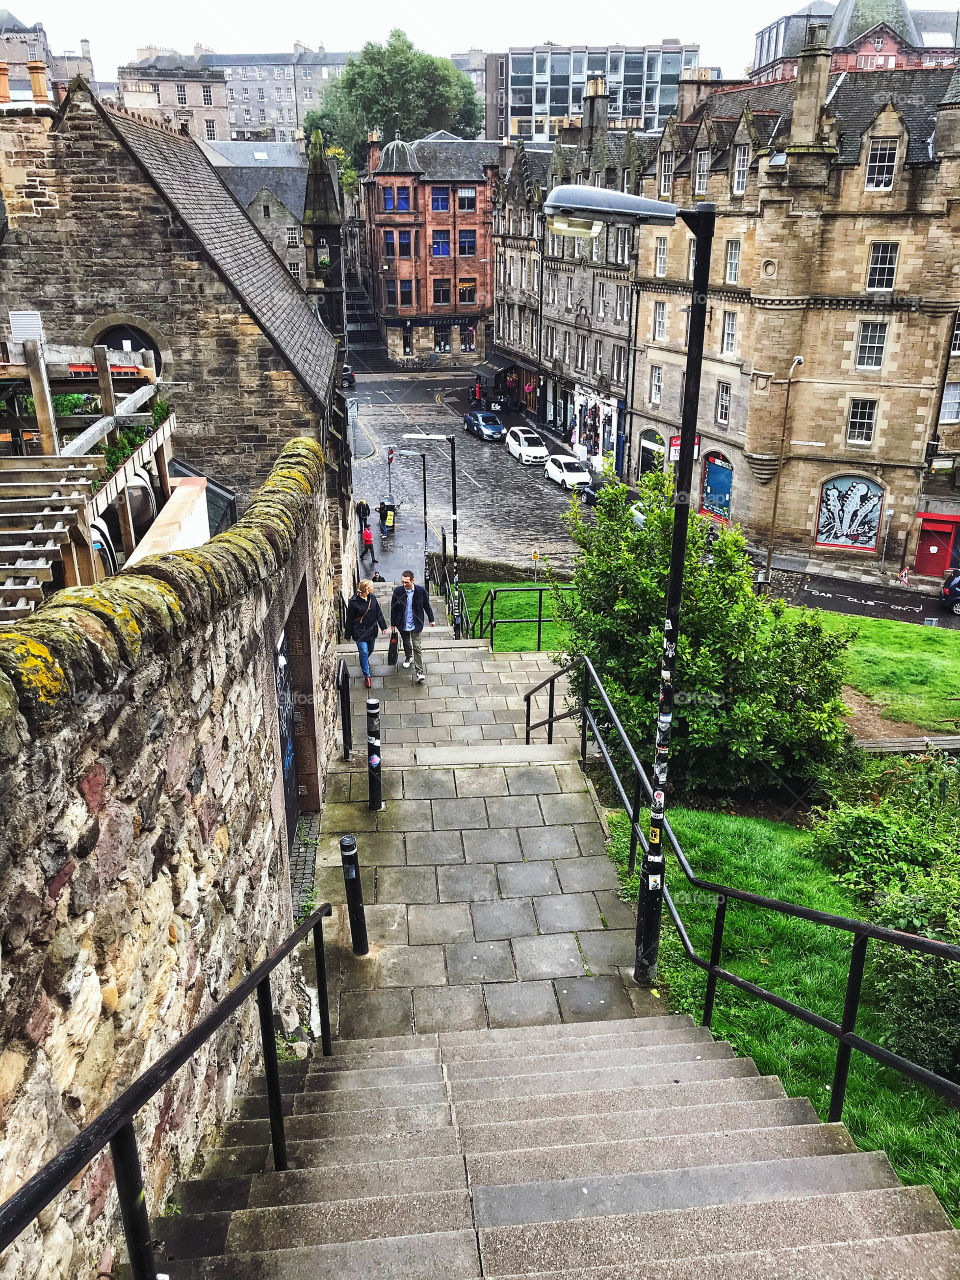
[(474, 1187), (566, 1181), (571, 1178), (580, 1180), (709, 1165), (730, 1167), (760, 1160), (840, 1156), (856, 1151), (844, 1125), (817, 1124), (732, 1133), (644, 1135), (580, 1144), (567, 1143), (566, 1134), (554, 1134), (554, 1142), (558, 1144), (553, 1147), (468, 1155), (470, 1181)]

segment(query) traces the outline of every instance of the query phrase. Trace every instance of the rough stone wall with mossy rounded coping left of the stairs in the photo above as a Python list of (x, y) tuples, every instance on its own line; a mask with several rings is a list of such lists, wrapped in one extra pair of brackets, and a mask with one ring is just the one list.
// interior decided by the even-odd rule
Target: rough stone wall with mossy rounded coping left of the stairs
[[(238, 525), (0, 628), (0, 1202), (292, 928), (275, 654), (302, 799), (334, 732), (324, 460), (291, 442)], [(275, 982), (301, 1020), (289, 966)], [(140, 1114), (157, 1211), (259, 1056), (256, 1002)], [(93, 1274), (116, 1233), (101, 1153), (3, 1280)]]

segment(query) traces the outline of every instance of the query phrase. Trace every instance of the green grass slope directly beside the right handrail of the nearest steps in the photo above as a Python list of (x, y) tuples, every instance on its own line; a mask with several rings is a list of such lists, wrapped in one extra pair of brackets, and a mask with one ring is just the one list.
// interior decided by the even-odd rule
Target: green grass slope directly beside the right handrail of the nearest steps
[[(835, 915), (860, 915), (827, 868), (812, 858), (806, 832), (782, 823), (690, 809), (675, 809), (671, 822), (704, 879)], [(630, 881), (626, 876), (626, 815), (614, 814), (611, 828), (609, 852), (623, 893), (636, 900), (636, 877)], [(671, 864), (668, 874), (671, 895), (694, 947), (708, 956), (716, 904), (708, 895), (687, 888), (676, 864)], [(833, 1021), (841, 1020), (849, 933), (730, 902), (724, 942), (724, 968)], [(699, 1023), (705, 977), (687, 961), (666, 911), (659, 974), (660, 993), (667, 996), (671, 1010), (692, 1014)], [(870, 1004), (869, 984), (856, 1029), (882, 1043), (882, 1014)], [(713, 1030), (737, 1053), (751, 1056), (762, 1074), (778, 1075), (788, 1094), (809, 1097), (820, 1119), (826, 1119), (836, 1061), (831, 1037), (724, 983), (717, 991)], [(886, 1151), (905, 1183), (929, 1183), (955, 1225), (960, 1225), (960, 1110), (854, 1053), (844, 1121), (860, 1148)]]

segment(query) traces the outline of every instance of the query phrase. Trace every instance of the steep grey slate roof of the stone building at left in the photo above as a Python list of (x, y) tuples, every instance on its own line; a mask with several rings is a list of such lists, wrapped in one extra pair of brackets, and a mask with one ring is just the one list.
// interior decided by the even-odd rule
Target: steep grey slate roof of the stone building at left
[(223, 184), (219, 172), (186, 134), (134, 119), (125, 111), (102, 105), (99, 110), (291, 369), (325, 403), (337, 343)]

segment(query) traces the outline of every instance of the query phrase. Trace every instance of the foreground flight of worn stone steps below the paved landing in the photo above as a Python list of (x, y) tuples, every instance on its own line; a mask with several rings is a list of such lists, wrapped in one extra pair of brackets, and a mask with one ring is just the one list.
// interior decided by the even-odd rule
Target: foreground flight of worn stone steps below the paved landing
[(925, 1187), (687, 1018), (337, 1041), (160, 1219), (170, 1280), (956, 1280)]

